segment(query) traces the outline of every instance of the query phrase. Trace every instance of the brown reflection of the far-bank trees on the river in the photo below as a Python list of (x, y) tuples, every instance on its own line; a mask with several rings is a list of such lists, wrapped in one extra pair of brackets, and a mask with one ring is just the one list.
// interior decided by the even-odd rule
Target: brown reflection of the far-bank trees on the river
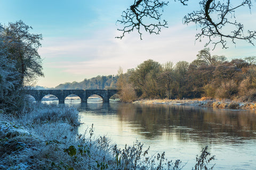
[[(218, 139), (229, 141), (234, 137), (255, 138), (256, 115), (245, 111), (223, 111), (186, 106), (141, 106), (121, 104), (117, 108), (120, 121), (137, 126), (148, 138), (178, 133), (180, 140)], [(221, 140), (219, 140), (221, 139)]]

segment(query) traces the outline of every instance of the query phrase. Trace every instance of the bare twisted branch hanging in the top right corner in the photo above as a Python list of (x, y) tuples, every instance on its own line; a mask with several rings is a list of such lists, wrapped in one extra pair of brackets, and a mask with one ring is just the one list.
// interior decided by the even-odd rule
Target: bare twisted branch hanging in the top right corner
[[(184, 17), (184, 23), (194, 22), (201, 27), (201, 32), (196, 34), (196, 40), (201, 41), (202, 38), (207, 37), (209, 41), (205, 46), (212, 43), (214, 48), (218, 44), (221, 44), (222, 48), (228, 48), (226, 46), (227, 39), (231, 39), (234, 44), (236, 40), (240, 39), (254, 45), (253, 40), (255, 40), (256, 31), (248, 30), (247, 35), (244, 35), (244, 25), (235, 20), (235, 9), (241, 6), (248, 6), (250, 10), (251, 1), (243, 0), (234, 7), (230, 4), (230, 0), (225, 2), (221, 3), (215, 0), (201, 1), (199, 3), (202, 6), (201, 11), (189, 13)], [(231, 28), (231, 30), (224, 32), (225, 28)]]

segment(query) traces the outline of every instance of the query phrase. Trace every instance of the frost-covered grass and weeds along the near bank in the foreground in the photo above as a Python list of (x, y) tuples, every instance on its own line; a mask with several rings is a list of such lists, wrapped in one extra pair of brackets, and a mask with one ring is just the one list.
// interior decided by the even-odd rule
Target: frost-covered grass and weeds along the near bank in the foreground
[(148, 155), (138, 141), (120, 149), (105, 136), (95, 138), (93, 125), (77, 134), (78, 125), (78, 112), (67, 106), (36, 105), (16, 116), (2, 112), (0, 169), (181, 169), (185, 165), (165, 159), (164, 153)]

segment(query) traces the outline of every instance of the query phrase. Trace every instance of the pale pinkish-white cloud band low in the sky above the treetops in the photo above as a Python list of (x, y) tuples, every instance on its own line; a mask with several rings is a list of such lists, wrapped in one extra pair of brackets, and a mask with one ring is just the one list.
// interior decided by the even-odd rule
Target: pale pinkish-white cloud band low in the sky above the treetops
[[(193, 28), (193, 29), (192, 29)], [(163, 29), (160, 35), (143, 34), (140, 40), (137, 32), (126, 35), (122, 40), (114, 38), (120, 32), (115, 28), (95, 30), (93, 35), (83, 38), (46, 38), (47, 43), (40, 49), (45, 56), (46, 69), (59, 69), (62, 73), (91, 78), (97, 75), (116, 74), (119, 66), (124, 71), (152, 59), (163, 64), (167, 61), (191, 62), (196, 59), (198, 51), (206, 43), (195, 42), (195, 27), (177, 24)], [(235, 54), (244, 54), (245, 47), (223, 50), (217, 47), (212, 55), (226, 55), (231, 58)], [(243, 48), (243, 49), (242, 49)], [(236, 52), (239, 50), (239, 53)], [(247, 49), (252, 53), (252, 48)], [(65, 79), (65, 78), (63, 78)]]

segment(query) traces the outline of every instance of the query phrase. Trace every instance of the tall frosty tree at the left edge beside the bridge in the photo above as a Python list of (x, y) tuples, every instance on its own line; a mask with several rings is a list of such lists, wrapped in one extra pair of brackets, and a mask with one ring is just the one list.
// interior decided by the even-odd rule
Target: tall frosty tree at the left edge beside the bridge
[(8, 112), (24, 109), (22, 89), (44, 75), (37, 52), (42, 35), (30, 29), (22, 21), (0, 23), (0, 107)]

